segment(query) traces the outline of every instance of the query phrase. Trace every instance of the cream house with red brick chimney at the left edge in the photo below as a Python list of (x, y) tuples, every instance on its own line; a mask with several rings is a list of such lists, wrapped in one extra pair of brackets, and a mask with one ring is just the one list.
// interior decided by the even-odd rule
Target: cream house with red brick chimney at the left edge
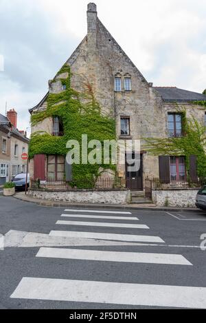
[(21, 155), (28, 152), (30, 140), (26, 132), (17, 129), (17, 113), (14, 109), (7, 116), (0, 114), (0, 185), (14, 176), (26, 172), (27, 161)]

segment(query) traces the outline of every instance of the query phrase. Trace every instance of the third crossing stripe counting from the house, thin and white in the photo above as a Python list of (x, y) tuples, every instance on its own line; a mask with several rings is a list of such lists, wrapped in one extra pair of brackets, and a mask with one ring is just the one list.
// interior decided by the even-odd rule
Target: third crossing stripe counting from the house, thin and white
[(106, 222), (57, 221), (56, 225), (81, 225), (85, 227), (150, 229), (147, 225), (128, 225), (126, 223), (106, 223)]

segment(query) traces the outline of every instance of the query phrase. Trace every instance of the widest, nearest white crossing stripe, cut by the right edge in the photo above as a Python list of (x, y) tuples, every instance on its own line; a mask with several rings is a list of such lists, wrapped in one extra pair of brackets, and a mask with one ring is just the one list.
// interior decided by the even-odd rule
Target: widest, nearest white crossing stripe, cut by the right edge
[(23, 278), (10, 298), (206, 309), (206, 288)]

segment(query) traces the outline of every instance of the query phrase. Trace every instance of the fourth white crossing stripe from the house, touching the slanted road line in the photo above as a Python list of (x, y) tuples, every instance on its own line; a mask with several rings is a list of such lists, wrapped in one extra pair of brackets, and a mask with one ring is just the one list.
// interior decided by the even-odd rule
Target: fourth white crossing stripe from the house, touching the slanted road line
[(79, 231), (51, 231), (49, 236), (69, 237), (69, 238), (87, 238), (98, 240), (115, 240), (115, 241), (137, 241), (137, 242), (156, 242), (165, 243), (161, 238), (154, 236), (136, 236), (128, 234), (115, 233), (95, 233), (95, 232), (79, 232)]

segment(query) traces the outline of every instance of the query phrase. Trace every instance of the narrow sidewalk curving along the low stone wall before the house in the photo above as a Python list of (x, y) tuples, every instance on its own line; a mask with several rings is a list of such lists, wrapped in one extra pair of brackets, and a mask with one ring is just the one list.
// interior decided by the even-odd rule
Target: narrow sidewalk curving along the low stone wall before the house
[(58, 202), (51, 200), (39, 200), (38, 198), (31, 198), (25, 195), (25, 192), (18, 192), (14, 196), (18, 200), (23, 200), (24, 202), (35, 203), (37, 205), (42, 205), (45, 207), (75, 207), (81, 209), (130, 209), (130, 210), (144, 210), (144, 211), (200, 211), (196, 208), (185, 208), (181, 209), (178, 207), (157, 207), (156, 205), (114, 205), (114, 204), (86, 204), (86, 203), (69, 203), (69, 202)]

